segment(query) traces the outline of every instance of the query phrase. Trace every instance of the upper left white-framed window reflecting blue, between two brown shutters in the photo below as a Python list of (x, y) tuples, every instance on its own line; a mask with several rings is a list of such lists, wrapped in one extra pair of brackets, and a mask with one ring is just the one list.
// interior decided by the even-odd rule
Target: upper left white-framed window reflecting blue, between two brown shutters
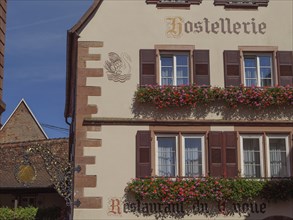
[(160, 85), (188, 85), (189, 54), (160, 54)]

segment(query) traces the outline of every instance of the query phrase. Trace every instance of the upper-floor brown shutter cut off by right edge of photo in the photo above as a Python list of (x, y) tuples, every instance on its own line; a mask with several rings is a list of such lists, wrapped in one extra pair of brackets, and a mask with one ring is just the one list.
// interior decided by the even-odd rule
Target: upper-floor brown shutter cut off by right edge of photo
[(293, 52), (278, 51), (278, 76), (279, 85), (287, 86), (293, 84)]

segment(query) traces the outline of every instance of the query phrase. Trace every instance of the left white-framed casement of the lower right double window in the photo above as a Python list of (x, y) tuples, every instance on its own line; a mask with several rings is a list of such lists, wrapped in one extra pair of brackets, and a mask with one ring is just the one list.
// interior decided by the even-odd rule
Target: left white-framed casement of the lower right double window
[(262, 137), (251, 135), (241, 136), (242, 176), (263, 177)]

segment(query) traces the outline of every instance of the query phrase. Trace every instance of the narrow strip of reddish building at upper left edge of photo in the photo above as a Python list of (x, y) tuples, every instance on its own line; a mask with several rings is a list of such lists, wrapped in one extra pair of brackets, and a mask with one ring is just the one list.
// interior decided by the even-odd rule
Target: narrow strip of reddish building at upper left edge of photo
[(0, 1), (0, 127), (1, 114), (5, 111), (5, 103), (3, 97), (3, 77), (4, 77), (4, 49), (5, 49), (5, 34), (6, 34), (6, 0)]

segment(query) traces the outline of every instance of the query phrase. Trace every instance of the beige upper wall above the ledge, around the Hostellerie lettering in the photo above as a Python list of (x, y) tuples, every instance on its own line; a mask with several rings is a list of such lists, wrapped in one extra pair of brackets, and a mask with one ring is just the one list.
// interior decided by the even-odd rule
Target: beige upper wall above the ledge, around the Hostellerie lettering
[[(100, 103), (93, 117), (132, 118), (133, 95), (139, 84), (139, 50), (154, 49), (155, 45), (192, 45), (195, 49), (210, 50), (210, 78), (212, 86), (224, 86), (223, 51), (238, 50), (239, 46), (275, 47), (292, 51), (292, 1), (270, 1), (268, 7), (257, 10), (224, 9), (212, 1), (191, 5), (190, 10), (158, 9), (145, 1), (104, 1), (98, 12), (80, 34), (79, 41), (102, 41), (103, 47), (89, 49), (92, 54), (101, 54), (100, 61), (87, 61), (88, 68), (104, 68), (108, 54), (127, 53), (131, 58), (131, 79), (124, 83), (108, 80), (104, 68), (103, 77), (88, 77), (88, 86), (100, 86), (100, 97), (88, 97), (89, 104)], [(209, 13), (207, 13), (209, 12)], [(282, 12), (282, 16), (276, 16)], [(184, 22), (210, 23), (228, 18), (231, 23), (254, 22), (261, 25), (263, 33), (182, 33), (181, 37), (168, 37), (170, 17), (181, 17)], [(265, 26), (265, 28), (264, 28)], [(291, 110), (290, 110), (291, 111)], [(290, 115), (290, 113), (289, 113)], [(192, 117), (192, 116), (191, 116)], [(291, 118), (286, 116), (283, 119)], [(222, 119), (222, 114), (209, 113), (204, 118)], [(281, 117), (280, 117), (281, 118)], [(280, 119), (279, 118), (279, 119)]]

